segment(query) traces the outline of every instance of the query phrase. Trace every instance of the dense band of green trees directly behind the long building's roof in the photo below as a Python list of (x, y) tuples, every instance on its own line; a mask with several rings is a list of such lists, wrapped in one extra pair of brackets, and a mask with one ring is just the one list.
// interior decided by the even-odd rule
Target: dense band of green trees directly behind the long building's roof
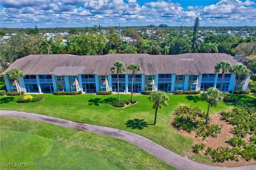
[[(195, 23), (196, 24), (196, 23)], [(100, 28), (100, 27), (99, 27)], [(97, 28), (97, 29), (99, 29)], [(214, 35), (212, 32), (198, 34), (194, 30), (156, 30), (155, 34), (142, 34), (136, 29), (122, 30), (121, 37), (114, 28), (102, 33), (77, 32), (68, 36), (56, 36), (47, 40), (40, 34), (24, 33), (1, 41), (0, 63), (6, 69), (16, 59), (30, 54), (104, 55), (108, 53), (147, 53), (167, 55), (181, 53), (227, 53), (238, 55), (253, 72), (256, 71), (256, 37)], [(126, 37), (126, 40), (123, 38)], [(63, 43), (63, 39), (66, 43)]]

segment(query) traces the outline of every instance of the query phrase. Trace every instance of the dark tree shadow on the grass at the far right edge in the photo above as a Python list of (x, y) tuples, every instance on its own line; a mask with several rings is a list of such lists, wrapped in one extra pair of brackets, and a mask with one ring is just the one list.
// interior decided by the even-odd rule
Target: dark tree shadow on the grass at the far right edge
[(234, 95), (236, 101), (234, 102), (225, 102), (228, 106), (235, 107), (256, 107), (256, 94), (252, 95)]

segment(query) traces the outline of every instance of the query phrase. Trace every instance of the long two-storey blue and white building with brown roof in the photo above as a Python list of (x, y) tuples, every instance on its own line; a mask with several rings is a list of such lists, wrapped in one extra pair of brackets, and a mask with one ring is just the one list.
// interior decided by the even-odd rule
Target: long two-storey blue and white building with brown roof
[[(207, 91), (209, 87), (220, 89), (221, 73), (214, 73), (220, 61), (238, 64), (225, 53), (184, 53), (179, 55), (107, 54), (107, 55), (28, 55), (17, 59), (6, 71), (19, 68), (25, 77), (19, 79), (21, 90), (26, 93), (53, 93), (54, 91), (117, 92), (117, 75), (110, 72), (115, 61), (128, 66), (136, 63), (134, 93), (163, 90), (168, 93), (185, 90)], [(4, 71), (2, 74), (6, 73)], [(226, 73), (221, 91), (232, 90), (236, 75)], [(235, 89), (248, 88), (250, 77), (240, 75)], [(14, 81), (4, 76), (8, 91), (17, 91)], [(132, 71), (119, 75), (120, 92), (131, 92)]]

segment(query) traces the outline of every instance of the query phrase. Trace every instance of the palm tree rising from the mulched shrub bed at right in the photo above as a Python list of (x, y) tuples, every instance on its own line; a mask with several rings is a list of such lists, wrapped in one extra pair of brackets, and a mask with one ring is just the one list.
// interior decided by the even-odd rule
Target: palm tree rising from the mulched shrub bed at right
[(218, 106), (218, 104), (220, 104), (222, 99), (223, 99), (222, 92), (220, 92), (218, 89), (214, 87), (210, 87), (207, 93), (202, 93), (202, 100), (208, 101), (208, 108), (207, 108), (206, 119), (205, 119), (206, 125), (208, 124), (210, 106), (215, 106), (215, 107)]

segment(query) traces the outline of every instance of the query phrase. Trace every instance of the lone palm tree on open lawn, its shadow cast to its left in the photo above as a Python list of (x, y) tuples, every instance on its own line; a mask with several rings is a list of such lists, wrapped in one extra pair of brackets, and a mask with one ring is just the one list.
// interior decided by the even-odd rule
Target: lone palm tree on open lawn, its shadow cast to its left
[(156, 116), (157, 116), (157, 109), (162, 108), (163, 105), (167, 106), (168, 103), (168, 97), (165, 95), (164, 91), (154, 91), (153, 93), (150, 94), (148, 97), (149, 101), (153, 102), (153, 109), (156, 109), (155, 111), (155, 121), (154, 125), (156, 125)]

